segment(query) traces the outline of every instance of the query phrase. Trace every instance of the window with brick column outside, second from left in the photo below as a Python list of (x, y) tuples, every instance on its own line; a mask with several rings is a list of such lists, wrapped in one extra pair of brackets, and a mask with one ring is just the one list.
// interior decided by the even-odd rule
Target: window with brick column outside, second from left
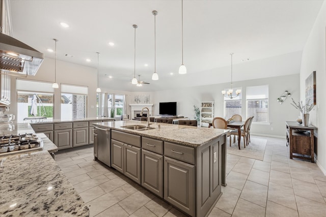
[(88, 87), (61, 85), (61, 119), (85, 118), (87, 116)]

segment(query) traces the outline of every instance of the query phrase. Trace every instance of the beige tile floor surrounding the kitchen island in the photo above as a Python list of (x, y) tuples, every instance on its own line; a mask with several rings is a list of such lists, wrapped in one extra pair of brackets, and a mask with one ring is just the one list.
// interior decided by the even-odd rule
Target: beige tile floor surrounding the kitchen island
[[(228, 154), (227, 187), (209, 216), (326, 216), (326, 176), (316, 164), (290, 160), (285, 139), (267, 138), (264, 161)], [(93, 161), (93, 148), (56, 155), (90, 216), (185, 216)]]

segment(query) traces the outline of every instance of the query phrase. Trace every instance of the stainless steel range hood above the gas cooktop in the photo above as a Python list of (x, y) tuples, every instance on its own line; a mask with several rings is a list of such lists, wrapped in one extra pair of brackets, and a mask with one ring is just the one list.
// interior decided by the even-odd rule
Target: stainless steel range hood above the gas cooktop
[(44, 60), (44, 54), (34, 48), (0, 33), (0, 70), (24, 75), (35, 75)]

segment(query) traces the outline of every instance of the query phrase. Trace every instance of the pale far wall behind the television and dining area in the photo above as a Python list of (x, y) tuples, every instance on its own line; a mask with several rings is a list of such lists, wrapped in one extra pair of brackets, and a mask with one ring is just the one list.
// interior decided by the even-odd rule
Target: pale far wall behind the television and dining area
[[(224, 116), (224, 97), (221, 90), (228, 88), (230, 83), (195, 86), (180, 89), (170, 89), (154, 92), (154, 113), (158, 114), (159, 102), (177, 102), (177, 114), (194, 119), (194, 105), (200, 107), (200, 102), (215, 102), (214, 116)], [(293, 99), (299, 99), (299, 74), (253, 79), (233, 82), (234, 87), (242, 88), (242, 117), (246, 117), (246, 88), (247, 86), (268, 85), (269, 87), (269, 122), (270, 125), (253, 123), (252, 133), (285, 138), (285, 121), (296, 120), (299, 113), (290, 105), (287, 99), (282, 105), (277, 102), (284, 90), (292, 94)], [(273, 127), (273, 131), (271, 130)]]

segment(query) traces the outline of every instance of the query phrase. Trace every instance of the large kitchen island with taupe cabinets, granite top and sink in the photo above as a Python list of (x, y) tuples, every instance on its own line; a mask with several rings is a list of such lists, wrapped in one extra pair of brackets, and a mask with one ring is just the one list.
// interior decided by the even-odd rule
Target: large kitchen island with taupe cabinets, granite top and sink
[[(93, 123), (106, 130), (107, 163), (191, 216), (206, 216), (226, 185), (227, 130), (146, 121)], [(102, 142), (94, 142), (94, 156)], [(111, 152), (110, 152), (111, 150)], [(103, 153), (101, 153), (103, 154)]]

